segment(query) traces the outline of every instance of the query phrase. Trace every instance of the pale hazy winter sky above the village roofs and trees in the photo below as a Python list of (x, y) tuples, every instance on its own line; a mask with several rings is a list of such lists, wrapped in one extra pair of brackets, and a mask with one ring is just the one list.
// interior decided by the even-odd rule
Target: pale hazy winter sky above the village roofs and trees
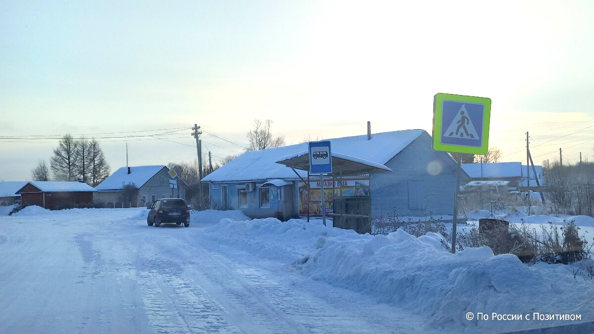
[(112, 169), (241, 153), (254, 119), (287, 144), (423, 129), (436, 93), (492, 100), (501, 162), (594, 160), (591, 1), (0, 2), (0, 181), (59, 138)]

